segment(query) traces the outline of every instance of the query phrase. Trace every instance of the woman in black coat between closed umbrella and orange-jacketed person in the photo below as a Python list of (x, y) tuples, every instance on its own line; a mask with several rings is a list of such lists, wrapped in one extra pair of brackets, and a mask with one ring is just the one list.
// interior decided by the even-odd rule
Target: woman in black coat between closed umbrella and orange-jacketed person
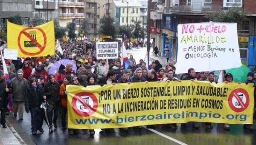
[[(49, 105), (53, 107), (52, 111), (49, 112), (48, 118), (49, 118), (49, 125), (50, 125), (50, 131), (53, 132), (52, 130), (52, 122), (53, 126), (57, 128), (57, 118), (58, 118), (58, 109), (60, 108), (60, 85), (58, 82), (55, 81), (54, 75), (49, 74), (49, 80), (46, 82), (44, 85), (44, 91), (45, 95), (47, 97), (47, 102)], [(54, 118), (52, 120), (52, 115), (54, 114)]]

